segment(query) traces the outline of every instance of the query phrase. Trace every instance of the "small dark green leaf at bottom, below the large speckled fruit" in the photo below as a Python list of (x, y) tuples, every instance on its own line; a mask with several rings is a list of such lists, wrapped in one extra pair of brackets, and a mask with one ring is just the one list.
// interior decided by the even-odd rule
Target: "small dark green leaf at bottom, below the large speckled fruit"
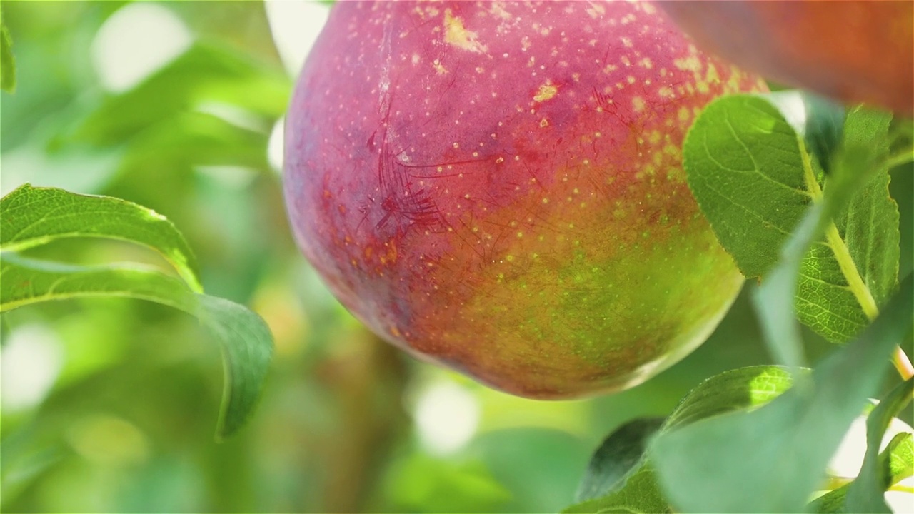
[(642, 464), (642, 455), (649, 437), (664, 423), (664, 418), (642, 418), (625, 423), (600, 444), (590, 458), (575, 501), (600, 498), (620, 483), (635, 466)]

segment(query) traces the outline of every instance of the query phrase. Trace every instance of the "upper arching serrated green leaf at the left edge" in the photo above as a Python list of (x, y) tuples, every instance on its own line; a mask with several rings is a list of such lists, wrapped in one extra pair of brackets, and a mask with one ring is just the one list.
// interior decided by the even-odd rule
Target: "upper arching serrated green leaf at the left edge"
[(61, 238), (98, 237), (142, 244), (162, 254), (195, 292), (194, 253), (175, 225), (120, 198), (78, 195), (28, 184), (0, 198), (0, 250), (15, 252)]

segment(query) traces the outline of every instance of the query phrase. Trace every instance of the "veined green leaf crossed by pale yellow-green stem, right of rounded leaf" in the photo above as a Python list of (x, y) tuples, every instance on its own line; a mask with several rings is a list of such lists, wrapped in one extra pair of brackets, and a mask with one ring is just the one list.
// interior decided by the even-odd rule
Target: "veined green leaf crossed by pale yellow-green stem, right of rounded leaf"
[(797, 317), (834, 342), (856, 336), (885, 305), (898, 284), (898, 205), (888, 195), (887, 130), (891, 116), (855, 109), (847, 114), (845, 141), (834, 156), (834, 173), (854, 184), (844, 209), (836, 211), (825, 241), (802, 261)]

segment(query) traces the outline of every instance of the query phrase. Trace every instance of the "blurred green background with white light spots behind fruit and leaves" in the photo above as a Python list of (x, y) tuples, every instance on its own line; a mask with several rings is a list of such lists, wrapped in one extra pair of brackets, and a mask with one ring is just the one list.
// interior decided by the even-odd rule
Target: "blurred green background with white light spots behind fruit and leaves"
[[(18, 89), (0, 96), (2, 193), (30, 182), (164, 214), (207, 293), (260, 313), (276, 351), (258, 411), (217, 444), (220, 357), (193, 318), (122, 299), (6, 313), (0, 509), (555, 511), (618, 425), (670, 412), (717, 372), (770, 362), (746, 291), (690, 357), (586, 401), (490, 391), (371, 336), (297, 252), (282, 205), (282, 114), (328, 8), (3, 3)], [(912, 176), (892, 177), (902, 276)], [(110, 241), (33, 254), (162, 263)], [(813, 361), (829, 349), (806, 337)]]

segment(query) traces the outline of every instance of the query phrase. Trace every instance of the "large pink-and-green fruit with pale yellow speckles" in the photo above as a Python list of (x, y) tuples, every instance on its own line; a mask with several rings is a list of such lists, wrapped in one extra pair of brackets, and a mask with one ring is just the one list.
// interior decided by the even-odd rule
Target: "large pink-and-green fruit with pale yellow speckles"
[(420, 358), (529, 398), (632, 387), (743, 284), (680, 148), (764, 88), (651, 4), (340, 2), (286, 120), (294, 235)]

